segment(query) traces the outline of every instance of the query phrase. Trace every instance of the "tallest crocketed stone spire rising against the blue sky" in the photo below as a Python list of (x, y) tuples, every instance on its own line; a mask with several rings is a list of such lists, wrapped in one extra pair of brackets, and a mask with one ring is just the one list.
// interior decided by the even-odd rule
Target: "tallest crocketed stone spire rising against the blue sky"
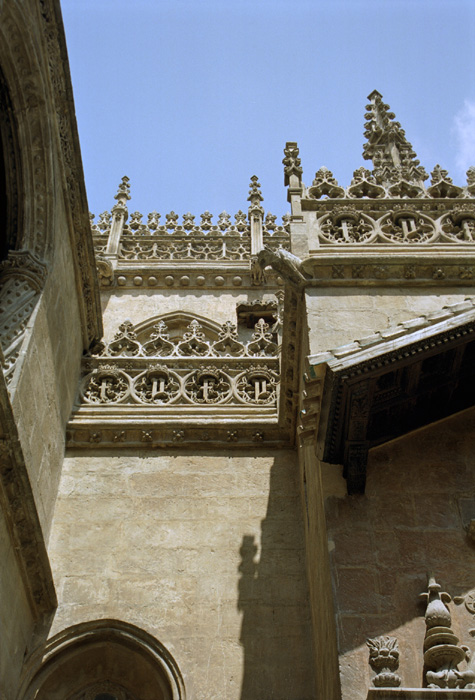
[(383, 102), (382, 95), (373, 90), (368, 99), (370, 104), (366, 105), (364, 131), (367, 142), (363, 146), (363, 158), (373, 161), (377, 182), (388, 184), (404, 179), (420, 183), (426, 180), (427, 173), (420, 166), (404, 129), (395, 121), (396, 115)]

